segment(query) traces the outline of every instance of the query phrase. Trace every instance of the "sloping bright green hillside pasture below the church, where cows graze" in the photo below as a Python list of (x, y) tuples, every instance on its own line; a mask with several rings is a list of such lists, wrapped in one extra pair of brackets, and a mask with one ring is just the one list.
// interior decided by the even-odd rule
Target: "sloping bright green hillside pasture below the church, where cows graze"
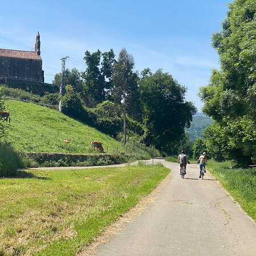
[[(123, 151), (121, 143), (109, 135), (56, 110), (32, 103), (6, 101), (11, 114), (9, 141), (18, 151), (88, 153), (90, 142), (102, 142), (105, 151)], [(70, 143), (64, 143), (69, 139)]]

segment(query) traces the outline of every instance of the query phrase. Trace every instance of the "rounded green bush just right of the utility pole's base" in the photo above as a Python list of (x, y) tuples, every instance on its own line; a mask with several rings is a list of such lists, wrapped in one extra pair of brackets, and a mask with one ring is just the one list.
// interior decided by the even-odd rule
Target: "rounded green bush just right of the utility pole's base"
[(84, 112), (80, 94), (75, 92), (71, 85), (65, 87), (61, 110), (63, 113), (71, 115), (72, 117), (77, 117)]

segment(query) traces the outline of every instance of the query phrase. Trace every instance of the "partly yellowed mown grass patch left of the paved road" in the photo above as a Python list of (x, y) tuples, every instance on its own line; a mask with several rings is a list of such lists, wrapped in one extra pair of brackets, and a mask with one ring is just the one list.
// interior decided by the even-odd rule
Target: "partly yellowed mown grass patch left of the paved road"
[(141, 164), (0, 179), (0, 255), (76, 255), (168, 172)]

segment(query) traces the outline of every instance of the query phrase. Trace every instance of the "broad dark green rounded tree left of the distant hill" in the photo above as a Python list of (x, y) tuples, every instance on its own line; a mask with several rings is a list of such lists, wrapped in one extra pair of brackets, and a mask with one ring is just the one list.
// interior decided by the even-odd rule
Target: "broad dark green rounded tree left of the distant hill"
[(145, 142), (167, 154), (176, 153), (176, 144), (185, 137), (184, 127), (189, 127), (196, 113), (192, 102), (185, 101), (185, 87), (159, 69), (154, 74), (147, 72), (139, 89), (147, 129)]

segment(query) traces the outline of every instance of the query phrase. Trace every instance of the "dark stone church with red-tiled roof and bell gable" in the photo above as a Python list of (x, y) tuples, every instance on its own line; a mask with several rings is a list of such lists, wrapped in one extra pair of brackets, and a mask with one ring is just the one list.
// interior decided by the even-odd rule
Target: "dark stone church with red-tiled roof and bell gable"
[(0, 49), (0, 77), (44, 82), (39, 32), (34, 51)]

